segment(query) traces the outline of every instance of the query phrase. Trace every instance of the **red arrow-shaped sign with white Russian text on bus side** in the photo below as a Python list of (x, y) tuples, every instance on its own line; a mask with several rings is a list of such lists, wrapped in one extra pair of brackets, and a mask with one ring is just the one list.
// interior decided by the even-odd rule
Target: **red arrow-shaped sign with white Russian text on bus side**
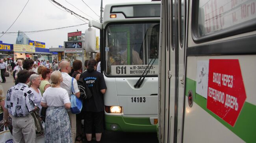
[(210, 59), (207, 108), (234, 127), (246, 93), (238, 60)]

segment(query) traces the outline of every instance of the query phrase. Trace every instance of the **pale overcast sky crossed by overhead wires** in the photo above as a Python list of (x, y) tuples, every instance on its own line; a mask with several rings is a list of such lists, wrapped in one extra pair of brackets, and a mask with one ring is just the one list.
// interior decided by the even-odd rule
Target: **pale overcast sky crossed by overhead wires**
[[(100, 19), (99, 16), (101, 0), (55, 1), (89, 20), (95, 19), (99, 21)], [(106, 4), (111, 3), (138, 1), (150, 0), (103, 0), (103, 7)], [(26, 5), (27, 2), (28, 4)], [(85, 4), (87, 4), (92, 10)], [(55, 29), (59, 27), (85, 24), (88, 22), (87, 20), (83, 19), (85, 21), (84, 22), (76, 18), (74, 14), (66, 12), (63, 8), (54, 4), (54, 2), (51, 0), (0, 0), (0, 5), (0, 36), (2, 36), (2, 32), (6, 32), (11, 24), (13, 24), (25, 5), (26, 7), (20, 14), (19, 18), (7, 32), (18, 32), (19, 30), (37, 31), (44, 29)], [(85, 24), (78, 27), (69, 27), (65, 29), (51, 30), (39, 33), (28, 33), (27, 36), (33, 41), (44, 42), (46, 48), (56, 48), (59, 45), (63, 45), (64, 41), (67, 41), (67, 33), (75, 32), (77, 30), (84, 33), (85, 29), (87, 28), (88, 24)], [(96, 33), (96, 36), (98, 36), (98, 32)], [(16, 38), (17, 33), (6, 33), (0, 38), (0, 41), (3, 41), (3, 43), (15, 44)]]

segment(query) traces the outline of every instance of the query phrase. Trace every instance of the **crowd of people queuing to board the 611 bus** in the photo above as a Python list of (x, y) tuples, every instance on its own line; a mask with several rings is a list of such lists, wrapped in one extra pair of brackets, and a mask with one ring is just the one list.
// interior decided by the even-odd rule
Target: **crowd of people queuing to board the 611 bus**
[[(37, 124), (45, 125), (45, 143), (74, 143), (83, 139), (90, 142), (94, 133), (96, 142), (100, 141), (104, 130), (103, 95), (107, 89), (103, 74), (100, 70), (97, 72), (100, 60), (86, 60), (85, 71), (82, 71), (82, 61), (74, 60), (72, 73), (67, 60), (56, 60), (54, 65), (50, 65), (48, 60), (45, 64), (40, 60), (35, 62), (31, 59), (17, 60), (17, 66), (12, 67), (15, 85), (7, 94), (3, 93), (0, 85), (0, 121), (3, 120), (4, 125), (12, 125), (13, 141), (35, 143), (36, 134), (39, 134)], [(4, 64), (0, 67), (2, 74)], [(82, 99), (82, 111), (73, 114), (70, 111), (71, 87), (74, 88), (73, 94), (80, 98), (78, 80), (85, 83), (93, 96)], [(6, 80), (3, 78), (2, 81)], [(39, 115), (45, 124), (37, 123), (32, 114)]]

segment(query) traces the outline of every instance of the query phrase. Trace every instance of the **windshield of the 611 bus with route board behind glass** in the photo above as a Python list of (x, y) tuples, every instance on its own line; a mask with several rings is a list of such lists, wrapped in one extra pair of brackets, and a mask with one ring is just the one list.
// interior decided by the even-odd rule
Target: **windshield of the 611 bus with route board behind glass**
[[(111, 24), (106, 28), (106, 71), (108, 75), (158, 74), (160, 24)], [(151, 66), (152, 65), (152, 66)]]

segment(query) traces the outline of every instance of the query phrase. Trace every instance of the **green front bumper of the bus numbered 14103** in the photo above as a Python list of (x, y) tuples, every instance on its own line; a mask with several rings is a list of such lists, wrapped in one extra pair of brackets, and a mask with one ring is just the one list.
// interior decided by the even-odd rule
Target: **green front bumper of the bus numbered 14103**
[(151, 125), (150, 118), (134, 118), (105, 115), (106, 130), (120, 132), (156, 132), (156, 125)]

